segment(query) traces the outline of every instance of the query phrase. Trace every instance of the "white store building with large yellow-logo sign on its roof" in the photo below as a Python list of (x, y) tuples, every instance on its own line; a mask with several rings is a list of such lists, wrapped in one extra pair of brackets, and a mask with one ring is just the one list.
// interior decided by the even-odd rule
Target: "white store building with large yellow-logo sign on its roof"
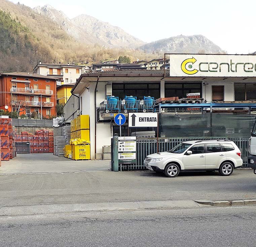
[[(113, 121), (114, 114), (143, 112), (145, 96), (153, 97), (154, 104), (158, 98), (181, 99), (186, 98), (188, 93), (196, 93), (207, 102), (241, 102), (256, 100), (255, 84), (254, 55), (212, 57), (202, 54), (173, 54), (170, 55), (170, 70), (113, 70), (82, 74), (72, 93), (79, 97), (80, 114), (90, 115), (91, 157), (94, 158), (95, 153), (102, 152), (102, 146), (110, 145), (113, 133), (119, 130)], [(137, 107), (132, 109), (125, 105), (125, 96), (130, 95), (136, 97)], [(117, 97), (116, 104), (110, 102), (110, 96)], [(233, 109), (225, 107), (221, 110), (225, 112)], [(179, 111), (178, 108), (174, 110), (165, 111), (165, 114)], [(146, 109), (146, 112), (152, 111), (153, 109)], [(147, 129), (133, 129), (142, 130)], [(127, 133), (127, 125), (122, 126), (122, 131)]]

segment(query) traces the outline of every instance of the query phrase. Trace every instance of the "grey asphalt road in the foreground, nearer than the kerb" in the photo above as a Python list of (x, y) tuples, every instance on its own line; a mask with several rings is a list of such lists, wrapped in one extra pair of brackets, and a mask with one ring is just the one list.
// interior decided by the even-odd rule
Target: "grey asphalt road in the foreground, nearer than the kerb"
[(0, 246), (256, 246), (256, 207), (0, 217)]

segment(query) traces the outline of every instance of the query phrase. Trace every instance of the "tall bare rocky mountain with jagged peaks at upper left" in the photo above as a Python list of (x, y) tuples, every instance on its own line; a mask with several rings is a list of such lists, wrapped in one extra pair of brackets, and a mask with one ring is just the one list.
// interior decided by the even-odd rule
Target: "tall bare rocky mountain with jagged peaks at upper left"
[(145, 42), (126, 33), (121, 28), (112, 26), (107, 22), (102, 22), (90, 15), (81, 14), (73, 19), (69, 19), (62, 11), (56, 10), (50, 5), (38, 6), (34, 10), (41, 15), (51, 18), (76, 40), (87, 44), (98, 43), (111, 48), (136, 48), (145, 44)]

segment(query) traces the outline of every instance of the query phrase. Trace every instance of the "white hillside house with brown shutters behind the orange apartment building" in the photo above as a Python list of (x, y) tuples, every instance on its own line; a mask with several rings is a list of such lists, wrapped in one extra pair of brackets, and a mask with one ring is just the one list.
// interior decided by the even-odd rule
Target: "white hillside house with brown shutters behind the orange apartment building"
[(44, 76), (59, 78), (58, 85), (62, 83), (76, 82), (82, 73), (89, 71), (88, 67), (82, 65), (67, 64), (42, 64), (41, 62), (34, 68), (34, 73)]

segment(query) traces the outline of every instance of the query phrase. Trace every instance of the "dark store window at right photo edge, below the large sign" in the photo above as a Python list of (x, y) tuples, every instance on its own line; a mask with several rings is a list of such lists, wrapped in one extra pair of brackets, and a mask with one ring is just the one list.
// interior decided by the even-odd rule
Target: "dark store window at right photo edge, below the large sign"
[(235, 101), (255, 100), (256, 87), (254, 84), (234, 83)]

